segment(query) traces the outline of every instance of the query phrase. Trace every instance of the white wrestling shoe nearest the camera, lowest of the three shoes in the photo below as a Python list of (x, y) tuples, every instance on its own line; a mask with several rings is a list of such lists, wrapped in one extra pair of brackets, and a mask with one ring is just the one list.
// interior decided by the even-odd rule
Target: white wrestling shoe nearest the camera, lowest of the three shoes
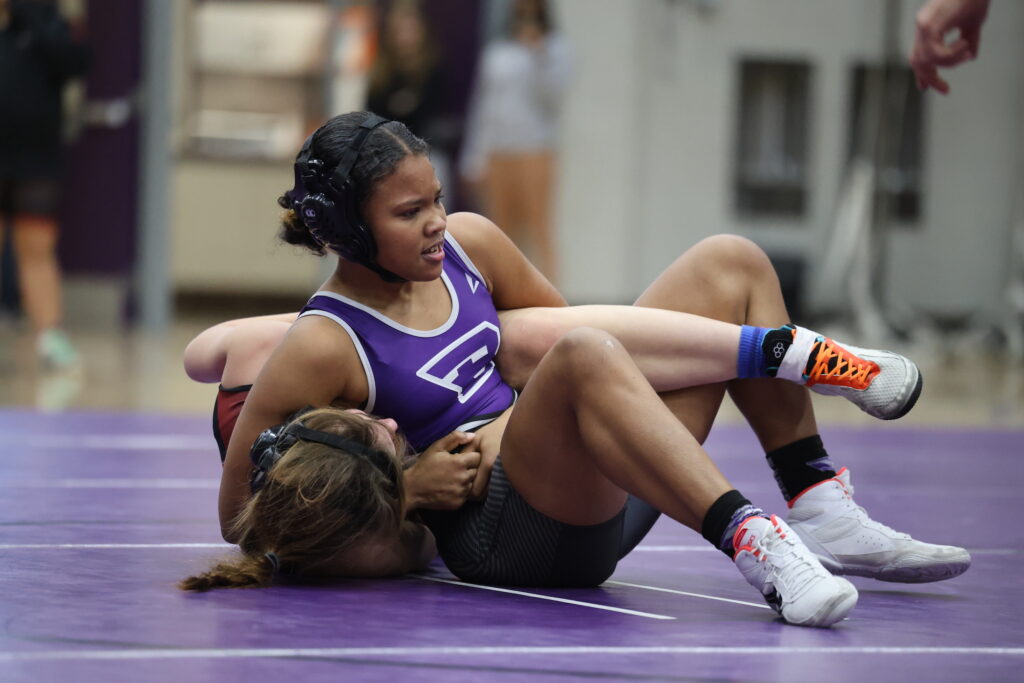
[(829, 627), (857, 604), (853, 584), (828, 573), (775, 515), (749, 517), (732, 547), (740, 573), (790, 624)]

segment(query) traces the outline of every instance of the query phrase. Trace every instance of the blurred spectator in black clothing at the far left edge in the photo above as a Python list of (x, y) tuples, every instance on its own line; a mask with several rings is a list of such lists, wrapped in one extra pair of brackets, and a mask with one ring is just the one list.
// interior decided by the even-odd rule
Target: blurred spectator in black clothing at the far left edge
[(77, 361), (60, 330), (56, 259), (61, 91), (87, 62), (53, 3), (0, 0), (0, 210), (13, 225), (22, 306), (40, 359), (54, 368)]

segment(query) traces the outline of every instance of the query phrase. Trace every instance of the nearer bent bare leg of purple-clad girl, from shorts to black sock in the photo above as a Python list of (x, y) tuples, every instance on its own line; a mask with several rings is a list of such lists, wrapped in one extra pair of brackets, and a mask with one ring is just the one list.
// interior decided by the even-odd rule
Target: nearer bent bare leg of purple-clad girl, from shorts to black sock
[(630, 492), (699, 530), (732, 488), (623, 345), (593, 329), (569, 332), (541, 361), (502, 461), (527, 503), (570, 524), (611, 518)]

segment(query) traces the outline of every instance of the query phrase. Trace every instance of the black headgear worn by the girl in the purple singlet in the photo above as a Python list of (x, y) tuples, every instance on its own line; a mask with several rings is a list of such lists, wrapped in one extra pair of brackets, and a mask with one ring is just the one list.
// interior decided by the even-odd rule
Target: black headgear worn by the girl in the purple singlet
[(312, 158), (312, 142), (323, 130), (317, 128), (306, 138), (295, 159), (295, 186), (286, 194), (302, 223), (322, 247), (365, 265), (390, 283), (406, 282), (377, 264), (377, 242), (370, 226), (362, 222), (352, 182), (352, 167), (359, 158), (364, 142), (378, 126), (389, 123), (376, 114), (368, 114), (352, 141), (341, 154), (334, 168)]

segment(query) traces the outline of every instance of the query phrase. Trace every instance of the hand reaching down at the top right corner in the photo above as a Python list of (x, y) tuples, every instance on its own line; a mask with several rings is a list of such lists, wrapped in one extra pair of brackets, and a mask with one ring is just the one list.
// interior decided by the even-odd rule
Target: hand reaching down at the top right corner
[[(988, 0), (930, 0), (918, 11), (910, 67), (919, 88), (949, 92), (949, 84), (939, 76), (938, 68), (977, 58), (981, 25), (987, 13)], [(959, 32), (959, 37), (947, 43), (946, 34), (953, 30)]]

